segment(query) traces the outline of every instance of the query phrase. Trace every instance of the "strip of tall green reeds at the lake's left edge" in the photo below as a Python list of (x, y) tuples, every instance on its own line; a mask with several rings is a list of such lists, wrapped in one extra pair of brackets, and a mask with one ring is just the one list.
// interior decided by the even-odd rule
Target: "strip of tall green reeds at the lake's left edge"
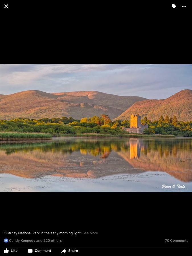
[(20, 141), (20, 140), (46, 140), (51, 139), (51, 134), (46, 133), (16, 133), (0, 132), (0, 141)]

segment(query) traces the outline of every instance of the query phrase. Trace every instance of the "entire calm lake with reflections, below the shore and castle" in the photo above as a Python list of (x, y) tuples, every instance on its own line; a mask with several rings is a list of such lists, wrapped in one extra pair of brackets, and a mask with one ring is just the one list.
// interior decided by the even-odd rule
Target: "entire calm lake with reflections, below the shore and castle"
[(189, 192), (191, 144), (190, 138), (0, 142), (0, 191)]

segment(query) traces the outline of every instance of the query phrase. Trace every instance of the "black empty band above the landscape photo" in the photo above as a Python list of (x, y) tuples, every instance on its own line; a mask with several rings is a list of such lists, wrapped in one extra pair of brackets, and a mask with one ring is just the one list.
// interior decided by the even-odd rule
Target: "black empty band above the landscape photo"
[(3, 63), (188, 63), (191, 1), (1, 0)]

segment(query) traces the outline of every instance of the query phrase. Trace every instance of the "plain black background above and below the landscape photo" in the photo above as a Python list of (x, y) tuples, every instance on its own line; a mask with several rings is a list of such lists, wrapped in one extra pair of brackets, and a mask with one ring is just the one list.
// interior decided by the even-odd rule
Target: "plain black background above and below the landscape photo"
[[(169, 1), (7, 3), (8, 10), (0, 9), (1, 63), (191, 61), (190, 2), (186, 9), (173, 9)], [(165, 239), (190, 241), (190, 193), (0, 193), (0, 197), (2, 246), (3, 230), (98, 232), (94, 237), (62, 238), (65, 245), (75, 246), (166, 245)], [(81, 252), (122, 255), (122, 250), (129, 253), (132, 249), (90, 247)], [(133, 250), (154, 254), (188, 253), (188, 249), (134, 247)]]

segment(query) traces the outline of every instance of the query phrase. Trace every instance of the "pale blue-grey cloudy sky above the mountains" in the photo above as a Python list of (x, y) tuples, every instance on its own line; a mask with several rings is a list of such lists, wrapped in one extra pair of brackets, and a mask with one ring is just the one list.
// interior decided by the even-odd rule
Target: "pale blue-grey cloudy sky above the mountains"
[(192, 64), (0, 64), (0, 94), (99, 91), (164, 99), (192, 89)]

